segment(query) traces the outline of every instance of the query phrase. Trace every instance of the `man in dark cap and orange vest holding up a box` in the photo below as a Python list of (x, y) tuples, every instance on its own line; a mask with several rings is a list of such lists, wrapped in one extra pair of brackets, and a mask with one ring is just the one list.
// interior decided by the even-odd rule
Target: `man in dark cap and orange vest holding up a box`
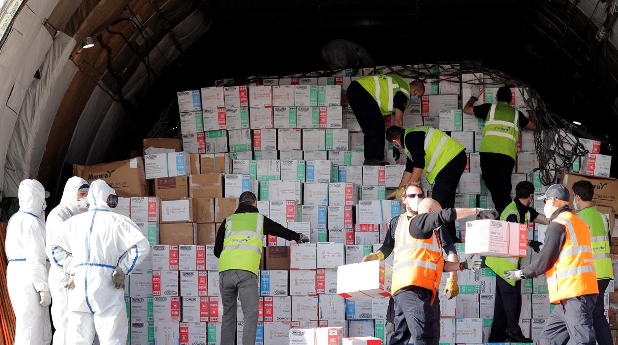
[(596, 344), (592, 315), (599, 289), (590, 229), (569, 209), (565, 186), (549, 186), (538, 200), (545, 202), (549, 219), (543, 248), (523, 270), (504, 271), (506, 278), (518, 281), (547, 275), (549, 302), (557, 304), (541, 334), (547, 344), (567, 344), (569, 339), (574, 344)]

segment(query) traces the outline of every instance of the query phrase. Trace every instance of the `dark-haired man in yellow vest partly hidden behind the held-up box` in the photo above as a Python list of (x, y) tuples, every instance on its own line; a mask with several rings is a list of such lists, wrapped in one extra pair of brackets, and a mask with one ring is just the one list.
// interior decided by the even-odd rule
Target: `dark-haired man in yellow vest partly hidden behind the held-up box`
[[(529, 222), (547, 224), (547, 218), (538, 214), (530, 207), (535, 186), (528, 181), (521, 181), (515, 186), (515, 199), (502, 211), (500, 220), (510, 223)], [(528, 245), (535, 252), (540, 251), (543, 243), (528, 241)], [(491, 324), (489, 343), (532, 343), (532, 339), (525, 338), (519, 326), (519, 315), (522, 311), (522, 286), (520, 281), (502, 277), (506, 270), (519, 268), (518, 257), (486, 257), (485, 265), (496, 273), (496, 302), (494, 304), (494, 321)], [(611, 263), (610, 263), (611, 264)], [(506, 340), (505, 340), (506, 339)]]

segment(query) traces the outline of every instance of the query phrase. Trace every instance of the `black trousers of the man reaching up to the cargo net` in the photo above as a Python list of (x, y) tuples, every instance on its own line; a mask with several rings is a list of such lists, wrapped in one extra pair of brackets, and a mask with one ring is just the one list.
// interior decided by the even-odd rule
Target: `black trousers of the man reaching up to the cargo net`
[(513, 201), (510, 197), (510, 175), (515, 160), (506, 154), (481, 152), (481, 173), (498, 214)]

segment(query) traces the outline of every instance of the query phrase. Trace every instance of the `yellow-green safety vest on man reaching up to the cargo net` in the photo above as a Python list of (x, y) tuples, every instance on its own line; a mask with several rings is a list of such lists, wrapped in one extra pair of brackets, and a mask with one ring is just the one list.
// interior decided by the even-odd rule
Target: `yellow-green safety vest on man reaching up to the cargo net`
[(483, 141), (478, 151), (506, 154), (515, 159), (518, 137), (519, 111), (505, 102), (492, 104), (485, 120)]

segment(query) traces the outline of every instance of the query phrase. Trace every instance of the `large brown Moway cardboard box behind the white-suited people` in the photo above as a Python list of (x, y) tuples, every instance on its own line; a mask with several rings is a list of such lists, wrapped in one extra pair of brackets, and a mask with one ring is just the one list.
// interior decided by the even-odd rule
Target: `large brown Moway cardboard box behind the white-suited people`
[(75, 176), (91, 183), (104, 180), (122, 197), (148, 196), (146, 173), (142, 157), (97, 165), (73, 165)]

